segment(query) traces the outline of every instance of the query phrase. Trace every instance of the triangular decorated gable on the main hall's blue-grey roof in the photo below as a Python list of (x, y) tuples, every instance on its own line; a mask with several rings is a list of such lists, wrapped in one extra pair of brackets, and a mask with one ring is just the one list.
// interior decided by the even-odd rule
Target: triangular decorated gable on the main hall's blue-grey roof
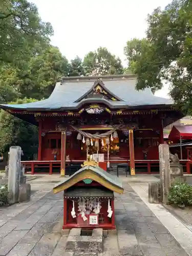
[(75, 102), (80, 102), (84, 99), (89, 98), (100, 98), (100, 99), (106, 99), (106, 100), (114, 100), (114, 101), (122, 101), (119, 97), (117, 97), (115, 94), (110, 92), (105, 86), (104, 83), (101, 81), (101, 79), (97, 79), (93, 87), (84, 95), (82, 95), (80, 98), (78, 98)]

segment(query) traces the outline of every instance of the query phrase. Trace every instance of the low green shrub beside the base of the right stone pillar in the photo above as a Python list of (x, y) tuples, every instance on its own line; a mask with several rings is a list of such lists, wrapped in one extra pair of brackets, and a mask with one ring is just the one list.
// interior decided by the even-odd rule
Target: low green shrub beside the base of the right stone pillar
[(168, 201), (175, 205), (192, 205), (192, 186), (177, 182), (170, 187)]

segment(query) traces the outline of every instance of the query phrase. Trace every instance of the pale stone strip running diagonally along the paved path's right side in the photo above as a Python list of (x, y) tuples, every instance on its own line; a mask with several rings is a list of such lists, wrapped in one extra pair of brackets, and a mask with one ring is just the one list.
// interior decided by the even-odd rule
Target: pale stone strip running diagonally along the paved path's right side
[[(192, 255), (192, 232), (185, 225), (183, 225), (178, 219), (176, 219), (172, 214), (170, 214), (170, 212), (167, 211), (162, 205), (149, 203), (146, 189), (142, 187), (142, 184), (135, 183), (135, 184), (131, 184), (131, 186), (135, 190), (137, 195), (142, 199), (145, 206), (151, 209), (153, 211), (153, 214), (156, 217), (154, 221), (151, 224), (149, 224), (149, 226), (152, 226), (153, 231), (155, 231), (156, 228), (164, 230), (161, 233), (161, 236), (159, 232), (156, 232), (155, 236), (159, 241), (159, 243), (161, 244), (161, 248), (165, 250), (166, 254), (191, 256)], [(154, 222), (157, 221), (156, 219), (158, 219), (161, 222), (162, 226), (159, 223), (158, 225), (155, 225)], [(146, 217), (146, 220), (147, 220), (147, 217)], [(163, 227), (165, 227), (168, 230), (168, 232), (165, 232), (165, 229)], [(152, 249), (149, 249), (149, 251), (150, 250), (154, 251), (154, 255), (155, 255), (156, 249), (154, 248), (156, 247), (154, 246)], [(184, 250), (182, 250), (182, 248)]]

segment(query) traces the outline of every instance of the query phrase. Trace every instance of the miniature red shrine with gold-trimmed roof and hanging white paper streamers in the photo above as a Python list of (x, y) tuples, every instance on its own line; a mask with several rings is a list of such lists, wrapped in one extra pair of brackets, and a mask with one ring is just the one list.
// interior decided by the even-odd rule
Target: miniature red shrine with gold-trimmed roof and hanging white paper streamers
[(55, 194), (60, 191), (64, 191), (62, 229), (116, 229), (114, 192), (123, 193), (121, 181), (90, 156), (75, 174), (54, 186)]

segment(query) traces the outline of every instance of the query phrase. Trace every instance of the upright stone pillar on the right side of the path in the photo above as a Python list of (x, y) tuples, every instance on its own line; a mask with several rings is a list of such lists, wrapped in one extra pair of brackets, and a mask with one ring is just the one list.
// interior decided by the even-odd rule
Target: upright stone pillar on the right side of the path
[(159, 173), (162, 202), (166, 204), (170, 188), (169, 146), (167, 144), (159, 145)]

